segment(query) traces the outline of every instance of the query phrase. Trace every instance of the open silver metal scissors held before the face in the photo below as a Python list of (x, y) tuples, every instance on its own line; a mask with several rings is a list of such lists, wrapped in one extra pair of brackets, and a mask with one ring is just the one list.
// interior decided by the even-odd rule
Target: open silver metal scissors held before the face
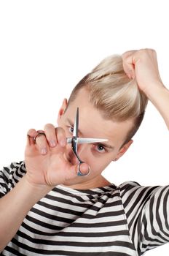
[(79, 156), (77, 154), (78, 143), (98, 143), (98, 142), (103, 142), (103, 141), (107, 141), (107, 140), (100, 139), (100, 138), (78, 138), (78, 127), (79, 127), (79, 108), (77, 108), (77, 110), (76, 110), (73, 137), (67, 138), (67, 143), (71, 143), (72, 150), (74, 151), (74, 154), (76, 155), (76, 158), (79, 161), (77, 176), (87, 176), (90, 173), (90, 167), (89, 167), (87, 174), (83, 174), (80, 171), (80, 165), (82, 165), (83, 161), (79, 158)]

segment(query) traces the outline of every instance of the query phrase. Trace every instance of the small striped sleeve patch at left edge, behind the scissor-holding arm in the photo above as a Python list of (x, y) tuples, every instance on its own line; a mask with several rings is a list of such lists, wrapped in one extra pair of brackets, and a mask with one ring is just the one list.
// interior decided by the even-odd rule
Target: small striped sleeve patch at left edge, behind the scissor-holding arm
[(12, 162), (0, 170), (0, 197), (6, 195), (25, 174), (25, 162)]

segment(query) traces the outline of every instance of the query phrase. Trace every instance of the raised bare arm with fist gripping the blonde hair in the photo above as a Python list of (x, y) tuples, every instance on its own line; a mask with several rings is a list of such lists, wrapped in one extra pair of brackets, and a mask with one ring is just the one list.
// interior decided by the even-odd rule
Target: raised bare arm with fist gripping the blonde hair
[(138, 88), (157, 108), (169, 129), (169, 90), (160, 78), (155, 50), (130, 50), (122, 58), (126, 74), (137, 80)]

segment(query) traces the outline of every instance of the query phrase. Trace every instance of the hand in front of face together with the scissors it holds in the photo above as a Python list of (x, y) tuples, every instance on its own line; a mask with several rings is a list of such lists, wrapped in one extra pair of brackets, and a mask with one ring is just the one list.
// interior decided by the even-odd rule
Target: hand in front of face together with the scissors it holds
[[(86, 174), (82, 172), (81, 165), (84, 162), (79, 157), (78, 144), (99, 143), (106, 141), (106, 139), (79, 138), (78, 127), (79, 108), (77, 108), (76, 110), (73, 136), (72, 138), (66, 138), (66, 140), (67, 143), (71, 143), (72, 150), (74, 151), (74, 154), (79, 162), (77, 176), (87, 176), (90, 173), (90, 167), (88, 167), (88, 172)], [(60, 127), (60, 129), (58, 129), (58, 127), (55, 128), (52, 124), (47, 124), (47, 126), (44, 127), (44, 129), (45, 131), (36, 131), (35, 129), (30, 129), (28, 131), (28, 143), (25, 148), (25, 165), (27, 173), (31, 173), (31, 176), (29, 176), (29, 178), (33, 183), (54, 185), (65, 184), (67, 179), (70, 179), (71, 181), (71, 177), (74, 177), (74, 172), (76, 172), (76, 166), (71, 165), (71, 163), (66, 161), (65, 157), (63, 157), (64, 151), (66, 151), (66, 146), (61, 146), (61, 140), (58, 140), (58, 132), (61, 131), (62, 128)], [(53, 138), (51, 136), (51, 131), (53, 131)], [(51, 139), (58, 140), (56, 146), (52, 148), (50, 146)], [(42, 154), (42, 148), (44, 148), (45, 146), (47, 147), (47, 153)], [(64, 174), (62, 174), (62, 172), (64, 172)], [(72, 180), (72, 184), (74, 184), (74, 180)]]

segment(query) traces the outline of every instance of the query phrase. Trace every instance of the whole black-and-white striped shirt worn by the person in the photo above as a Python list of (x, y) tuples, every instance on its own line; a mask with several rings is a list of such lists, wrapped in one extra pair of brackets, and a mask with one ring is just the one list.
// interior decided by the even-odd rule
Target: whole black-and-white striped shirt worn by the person
[[(25, 171), (23, 161), (3, 167), (1, 197)], [(144, 255), (169, 241), (168, 195), (169, 186), (133, 181), (86, 190), (59, 185), (31, 208), (1, 255)]]

